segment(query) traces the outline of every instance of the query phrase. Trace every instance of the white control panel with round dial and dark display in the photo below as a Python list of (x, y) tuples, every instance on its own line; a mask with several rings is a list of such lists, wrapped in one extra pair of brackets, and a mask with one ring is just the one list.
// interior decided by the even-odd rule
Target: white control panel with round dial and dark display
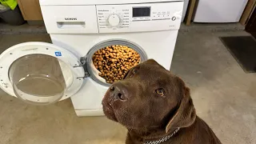
[(178, 30), (183, 2), (96, 6), (99, 33)]

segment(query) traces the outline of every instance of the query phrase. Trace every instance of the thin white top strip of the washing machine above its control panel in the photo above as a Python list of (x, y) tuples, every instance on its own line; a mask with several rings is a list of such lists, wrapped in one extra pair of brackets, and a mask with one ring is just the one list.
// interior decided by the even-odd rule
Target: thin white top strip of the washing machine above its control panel
[(181, 2), (184, 0), (40, 0), (40, 5), (108, 5), (108, 4), (136, 4), (150, 2)]

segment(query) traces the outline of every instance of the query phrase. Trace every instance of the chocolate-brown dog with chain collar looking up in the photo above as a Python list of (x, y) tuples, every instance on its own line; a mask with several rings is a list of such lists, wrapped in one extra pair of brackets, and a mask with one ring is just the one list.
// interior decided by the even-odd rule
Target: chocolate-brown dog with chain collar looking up
[(182, 79), (154, 60), (110, 86), (102, 105), (107, 118), (128, 129), (126, 144), (221, 144), (196, 115)]

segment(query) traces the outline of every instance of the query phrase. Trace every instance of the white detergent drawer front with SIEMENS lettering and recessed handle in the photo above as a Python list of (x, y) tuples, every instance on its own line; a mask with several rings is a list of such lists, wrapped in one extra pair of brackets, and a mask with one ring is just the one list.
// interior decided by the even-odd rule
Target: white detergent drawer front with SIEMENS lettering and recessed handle
[(98, 33), (95, 6), (41, 6), (48, 34)]

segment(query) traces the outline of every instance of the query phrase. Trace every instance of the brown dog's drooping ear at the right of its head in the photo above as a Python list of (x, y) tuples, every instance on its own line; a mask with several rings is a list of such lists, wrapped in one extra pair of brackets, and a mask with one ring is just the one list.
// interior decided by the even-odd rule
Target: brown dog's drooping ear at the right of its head
[(194, 109), (192, 98), (190, 97), (190, 89), (185, 86), (185, 83), (181, 78), (177, 77), (178, 86), (180, 86), (182, 95), (181, 102), (178, 106), (178, 110), (174, 114), (166, 126), (166, 133), (170, 129), (182, 128), (191, 126), (196, 118), (196, 112)]

